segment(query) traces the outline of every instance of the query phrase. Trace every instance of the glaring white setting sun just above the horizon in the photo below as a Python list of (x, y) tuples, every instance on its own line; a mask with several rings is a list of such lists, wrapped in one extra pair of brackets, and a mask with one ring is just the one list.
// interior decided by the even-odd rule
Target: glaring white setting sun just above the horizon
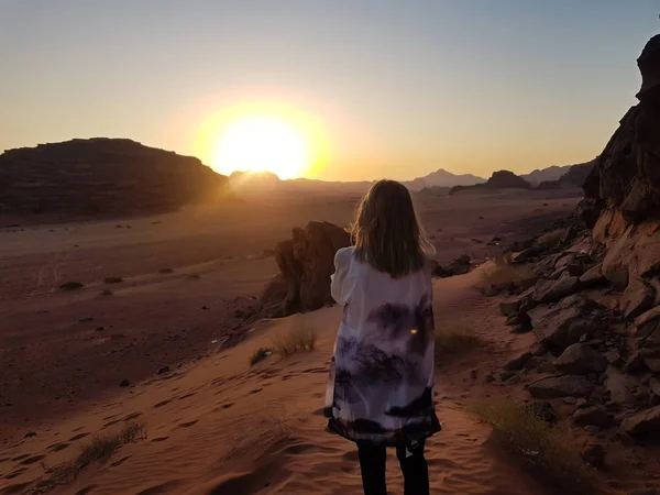
[(272, 172), (288, 179), (299, 177), (309, 166), (310, 151), (304, 135), (284, 120), (249, 116), (220, 132), (212, 160), (221, 174)]

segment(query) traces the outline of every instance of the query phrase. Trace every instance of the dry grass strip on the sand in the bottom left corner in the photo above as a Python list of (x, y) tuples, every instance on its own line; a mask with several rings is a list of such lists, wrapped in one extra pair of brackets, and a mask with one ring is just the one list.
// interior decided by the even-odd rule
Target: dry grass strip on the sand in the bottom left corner
[(94, 462), (105, 461), (121, 446), (146, 438), (146, 427), (143, 422), (130, 422), (113, 436), (95, 437), (86, 443), (76, 459), (54, 468), (45, 468), (47, 479), (41, 481), (32, 495), (47, 493), (57, 486), (65, 485), (78, 477), (80, 471)]

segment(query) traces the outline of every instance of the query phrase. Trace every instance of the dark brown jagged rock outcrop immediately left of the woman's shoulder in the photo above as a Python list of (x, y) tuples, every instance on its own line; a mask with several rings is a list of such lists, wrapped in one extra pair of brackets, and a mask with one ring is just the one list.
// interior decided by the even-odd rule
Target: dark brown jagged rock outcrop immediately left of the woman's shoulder
[(334, 253), (350, 243), (349, 233), (333, 223), (295, 228), (292, 239), (275, 248), (280, 274), (262, 294), (263, 316), (282, 317), (333, 304), (330, 275), (334, 273)]

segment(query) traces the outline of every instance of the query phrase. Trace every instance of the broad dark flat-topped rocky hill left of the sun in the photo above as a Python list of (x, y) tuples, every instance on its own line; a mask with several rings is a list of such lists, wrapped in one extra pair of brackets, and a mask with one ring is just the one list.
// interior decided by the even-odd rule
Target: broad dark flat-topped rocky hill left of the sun
[(97, 138), (0, 155), (0, 212), (125, 216), (173, 211), (227, 194), (199, 160), (123, 139)]

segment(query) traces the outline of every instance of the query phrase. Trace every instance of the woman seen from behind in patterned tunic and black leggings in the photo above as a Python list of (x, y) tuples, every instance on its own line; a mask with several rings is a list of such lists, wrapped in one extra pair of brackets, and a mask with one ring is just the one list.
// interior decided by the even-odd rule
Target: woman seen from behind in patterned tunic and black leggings
[(425, 439), (433, 408), (432, 249), (410, 193), (381, 180), (364, 196), (339, 250), (331, 292), (344, 305), (326, 395), (334, 432), (358, 443), (365, 495), (386, 495), (386, 447), (396, 447), (406, 495), (429, 493)]

